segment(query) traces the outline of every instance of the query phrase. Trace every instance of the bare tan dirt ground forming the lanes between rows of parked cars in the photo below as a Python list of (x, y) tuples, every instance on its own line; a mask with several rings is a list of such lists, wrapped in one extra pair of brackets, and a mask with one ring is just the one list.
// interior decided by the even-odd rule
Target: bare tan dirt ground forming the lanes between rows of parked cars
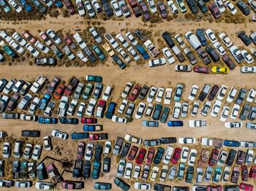
[[(128, 24), (127, 24), (128, 23)], [(148, 25), (148, 24), (146, 24)], [(135, 28), (145, 28), (152, 31), (153, 34), (158, 34), (159, 36), (163, 31), (171, 31), (175, 34), (185, 34), (187, 31), (195, 30), (196, 28), (211, 28), (214, 31), (225, 31), (230, 39), (236, 43), (237, 46), (241, 46), (242, 42), (240, 39), (236, 37), (236, 31), (244, 30), (247, 34), (250, 31), (255, 30), (255, 23), (247, 23), (235, 25), (232, 23), (208, 23), (207, 21), (195, 23), (195, 22), (187, 22), (186, 20), (171, 20), (169, 22), (164, 21), (162, 23), (157, 24), (157, 27), (148, 27), (145, 23), (142, 23), (140, 19), (135, 20), (134, 17), (123, 20), (113, 22), (112, 20), (107, 20), (102, 22), (101, 26), (106, 28), (107, 32), (119, 32), (125, 29), (133, 30)], [(23, 21), (18, 25), (14, 25), (8, 22), (1, 22), (1, 28), (15, 28), (17, 31), (23, 31), (23, 29), (29, 29), (31, 34), (38, 34), (38, 29), (45, 30), (51, 28), (53, 30), (63, 29), (63, 31), (71, 31), (73, 34), (75, 33), (75, 28), (85, 29), (87, 28), (87, 24), (80, 17), (70, 17), (70, 18), (61, 18), (58, 20), (50, 18), (50, 20), (40, 20), (40, 21)], [(156, 41), (156, 39), (154, 39)], [(235, 70), (231, 71), (230, 74), (227, 75), (206, 75), (206, 74), (197, 74), (195, 72), (192, 73), (178, 73), (174, 71), (174, 66), (178, 62), (172, 66), (166, 64), (165, 66), (160, 66), (157, 68), (149, 68), (148, 64), (144, 64), (143, 66), (139, 66), (136, 63), (130, 63), (127, 69), (121, 70), (118, 69), (118, 66), (113, 65), (110, 61), (105, 63), (104, 65), (99, 64), (95, 67), (74, 67), (70, 66), (69, 68), (65, 67), (38, 67), (38, 66), (28, 66), (26, 63), (13, 63), (12, 66), (0, 66), (0, 77), (4, 77), (7, 79), (16, 78), (16, 79), (24, 79), (24, 80), (33, 80), (39, 74), (43, 74), (47, 76), (49, 79), (53, 79), (53, 77), (61, 77), (61, 79), (68, 81), (72, 76), (78, 77), (82, 79), (88, 74), (97, 74), (103, 77), (103, 83), (105, 85), (113, 85), (113, 98), (112, 101), (117, 101), (120, 103), (120, 93), (123, 89), (124, 85), (127, 82), (138, 82), (141, 85), (154, 85), (157, 87), (175, 87), (177, 83), (184, 83), (185, 90), (183, 93), (183, 99), (187, 100), (187, 96), (189, 94), (189, 90), (192, 84), (199, 85), (200, 90), (203, 85), (206, 83), (210, 83), (211, 85), (227, 85), (228, 87), (247, 87), (252, 88), (256, 87), (256, 78), (255, 74), (241, 74), (239, 67)], [(138, 104), (138, 101), (136, 101)], [(202, 104), (200, 105), (200, 109)], [(171, 109), (172, 112), (172, 109)], [(146, 119), (143, 117), (143, 119)], [(171, 120), (172, 117), (169, 117), (168, 120)], [(206, 119), (207, 127), (206, 128), (188, 128), (187, 121), (192, 120), (192, 118), (184, 119), (184, 127), (182, 128), (169, 128), (167, 124), (160, 123), (159, 128), (145, 128), (141, 125), (142, 120), (133, 120), (129, 122), (127, 125), (122, 125), (116, 122), (111, 122), (107, 119), (99, 119), (99, 124), (104, 125), (104, 131), (107, 132), (109, 139), (114, 141), (116, 136), (124, 137), (125, 134), (130, 133), (132, 135), (138, 136), (142, 139), (151, 139), (151, 138), (160, 138), (163, 136), (195, 136), (197, 138), (197, 145), (195, 146), (197, 152), (200, 152), (199, 139), (203, 136), (207, 137), (215, 137), (219, 139), (234, 139), (234, 140), (248, 140), (248, 141), (256, 141), (255, 139), (255, 130), (249, 130), (245, 127), (241, 129), (231, 130), (224, 127), (224, 123), (220, 122), (217, 118), (214, 117), (202, 117), (200, 114), (197, 114), (197, 120)], [(181, 119), (183, 120), (183, 119)], [(245, 123), (244, 123), (245, 126)], [(72, 133), (74, 131), (81, 132), (83, 129), (83, 125), (39, 125), (37, 122), (23, 122), (20, 120), (0, 120), (0, 130), (6, 130), (9, 136), (13, 138), (19, 138), (21, 130), (24, 129), (38, 129), (41, 130), (41, 138), (35, 139), (34, 142), (42, 144), (42, 137), (50, 135), (51, 130), (57, 128), (59, 130), (63, 130), (67, 133)], [(32, 141), (32, 139), (29, 139)], [(53, 139), (53, 145), (58, 145), (63, 148), (61, 158), (69, 158), (74, 159), (75, 153), (78, 145), (78, 141), (72, 141), (68, 139), (68, 141), (62, 141)], [(174, 144), (174, 147), (178, 146), (178, 144)], [(166, 147), (166, 146), (164, 146)], [(181, 145), (179, 145), (181, 147)], [(42, 152), (42, 157), (45, 155), (55, 156), (52, 152)], [(42, 158), (41, 157), (41, 158)], [(48, 163), (48, 161), (46, 162)], [(111, 182), (113, 183), (113, 179), (116, 175), (116, 157), (112, 158), (111, 163), (111, 171), (109, 174), (105, 174), (105, 176), (97, 179), (97, 182)], [(71, 177), (70, 174), (65, 174), (64, 178), (69, 179)], [(127, 181), (127, 180), (125, 180)], [(134, 182), (135, 180), (132, 180)], [(195, 181), (195, 179), (193, 180)], [(240, 182), (240, 181), (239, 181)], [(84, 190), (93, 190), (93, 183), (91, 180), (87, 180), (85, 182)], [(176, 182), (160, 182), (162, 184), (170, 184), (171, 186), (183, 186), (186, 184), (184, 181), (176, 181)], [(252, 184), (256, 185), (256, 182), (252, 182)], [(113, 190), (118, 190), (114, 184)], [(153, 185), (153, 184), (152, 184)], [(17, 188), (12, 188), (10, 190), (17, 190)], [(34, 187), (29, 190), (35, 190)], [(131, 187), (133, 190), (133, 185)]]

